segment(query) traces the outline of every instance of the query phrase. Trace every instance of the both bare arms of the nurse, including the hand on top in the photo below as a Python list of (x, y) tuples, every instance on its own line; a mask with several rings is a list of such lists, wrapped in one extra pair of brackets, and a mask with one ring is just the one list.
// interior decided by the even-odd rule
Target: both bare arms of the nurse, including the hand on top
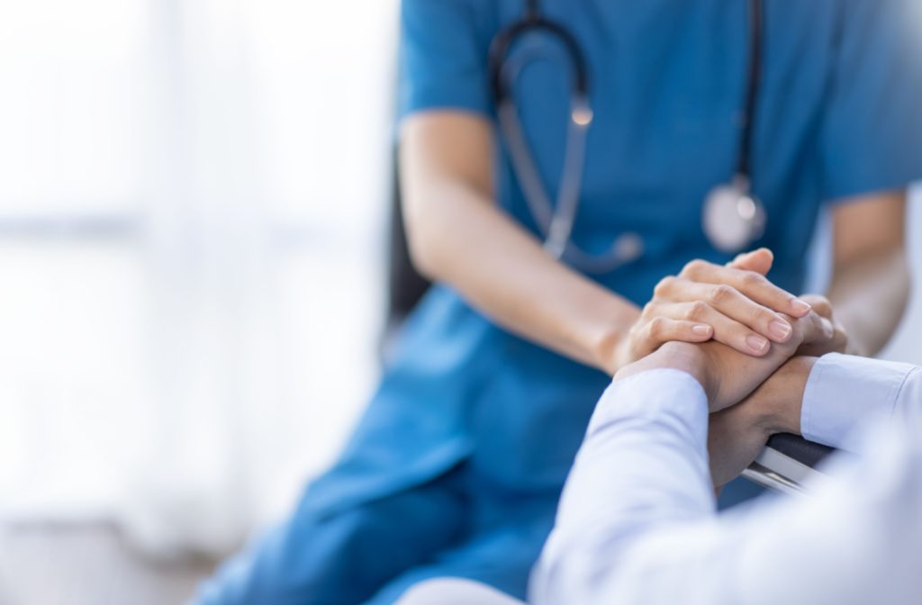
[[(810, 313), (809, 303), (765, 279), (767, 269), (703, 261), (663, 279), (638, 308), (551, 258), (496, 206), (492, 140), (492, 126), (475, 114), (411, 115), (401, 125), (400, 178), (414, 264), (498, 325), (614, 374), (672, 340), (713, 339), (763, 356), (790, 338), (787, 317)], [(838, 350), (845, 331), (854, 331), (855, 351), (874, 350), (890, 337), (908, 282), (904, 271), (891, 270), (900, 258), (904, 266), (902, 231), (895, 237), (903, 206), (904, 194), (894, 193), (835, 210), (827, 303), (837, 309), (841, 329), (829, 342), (815, 343), (817, 350)], [(874, 314), (881, 316), (868, 319), (868, 308), (881, 309)]]

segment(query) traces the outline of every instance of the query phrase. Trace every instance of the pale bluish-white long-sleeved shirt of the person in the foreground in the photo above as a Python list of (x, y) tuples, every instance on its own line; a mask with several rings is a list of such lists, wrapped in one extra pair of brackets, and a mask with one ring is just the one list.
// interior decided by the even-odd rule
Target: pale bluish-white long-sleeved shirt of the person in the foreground
[(533, 602), (922, 602), (922, 370), (823, 357), (803, 433), (861, 457), (835, 457), (833, 479), (810, 498), (763, 498), (720, 517), (707, 414), (702, 387), (679, 371), (609, 387), (533, 573)]

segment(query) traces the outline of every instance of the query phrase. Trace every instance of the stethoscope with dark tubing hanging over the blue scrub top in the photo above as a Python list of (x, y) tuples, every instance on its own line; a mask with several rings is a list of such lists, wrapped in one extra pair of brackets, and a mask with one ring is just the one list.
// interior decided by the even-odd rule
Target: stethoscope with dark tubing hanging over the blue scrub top
[[(585, 164), (585, 137), (593, 121), (589, 104), (585, 55), (569, 30), (544, 17), (539, 0), (526, 0), (525, 16), (500, 31), (490, 47), (490, 77), (500, 132), (509, 149), (515, 178), (522, 188), (529, 212), (544, 237), (550, 255), (590, 273), (606, 273), (632, 263), (644, 254), (643, 238), (637, 233), (622, 233), (607, 252), (590, 254), (573, 243), (573, 221), (579, 210), (579, 197)], [(736, 253), (762, 237), (765, 208), (751, 192), (751, 145), (755, 102), (762, 71), (762, 0), (749, 0), (750, 57), (746, 100), (740, 115), (741, 130), (736, 172), (727, 184), (720, 184), (706, 196), (702, 228), (715, 249)], [(563, 172), (557, 203), (541, 183), (535, 160), (526, 141), (514, 99), (514, 84), (526, 65), (547, 57), (536, 45), (524, 45), (509, 56), (515, 42), (526, 34), (544, 33), (559, 42), (573, 67), (570, 119), (564, 149)]]

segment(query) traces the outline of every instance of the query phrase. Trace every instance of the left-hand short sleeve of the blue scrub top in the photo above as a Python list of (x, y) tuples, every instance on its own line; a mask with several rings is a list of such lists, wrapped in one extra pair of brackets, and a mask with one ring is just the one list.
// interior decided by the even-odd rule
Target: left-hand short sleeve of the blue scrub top
[(491, 0), (403, 0), (399, 113), (491, 113)]

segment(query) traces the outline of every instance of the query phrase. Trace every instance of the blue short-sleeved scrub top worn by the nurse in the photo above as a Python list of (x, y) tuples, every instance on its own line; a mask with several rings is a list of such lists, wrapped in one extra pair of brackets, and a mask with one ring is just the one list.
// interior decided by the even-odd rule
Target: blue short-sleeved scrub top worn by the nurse
[[(749, 32), (743, 0), (545, 0), (588, 64), (595, 121), (573, 239), (607, 248), (644, 238), (644, 256), (597, 276), (643, 304), (692, 258), (726, 262), (702, 231), (702, 200), (739, 154)], [(823, 202), (922, 178), (922, 10), (916, 0), (768, 0), (755, 111), (752, 187), (767, 209), (753, 244), (799, 291)], [(495, 118), (487, 53), (523, 0), (404, 0), (401, 114)], [(541, 37), (526, 43), (554, 43)], [(521, 52), (521, 48), (518, 49)], [(561, 177), (570, 77), (544, 62), (516, 96), (549, 191)], [(497, 140), (498, 203), (537, 231)], [(438, 203), (433, 200), (432, 203)], [(488, 271), (490, 267), (483, 267)], [(554, 495), (609, 379), (506, 333), (435, 287), (338, 462), (304, 506), (332, 511), (408, 489), (468, 460), (490, 489)]]

